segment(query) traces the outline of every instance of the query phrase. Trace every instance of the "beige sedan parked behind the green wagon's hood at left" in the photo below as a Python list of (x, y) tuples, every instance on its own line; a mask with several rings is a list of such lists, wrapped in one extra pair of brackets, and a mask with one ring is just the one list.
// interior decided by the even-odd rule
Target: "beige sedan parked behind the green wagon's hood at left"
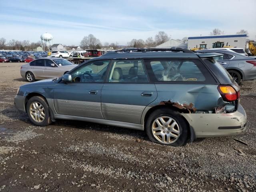
[(77, 65), (63, 58), (47, 57), (36, 59), (28, 64), (22, 65), (20, 74), (23, 78), (26, 78), (28, 82), (34, 82), (35, 80), (45, 78), (60, 77), (76, 66)]

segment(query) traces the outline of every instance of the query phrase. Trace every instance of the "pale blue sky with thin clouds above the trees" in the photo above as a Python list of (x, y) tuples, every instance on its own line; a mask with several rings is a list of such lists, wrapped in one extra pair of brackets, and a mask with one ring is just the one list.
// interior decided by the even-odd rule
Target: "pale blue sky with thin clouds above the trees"
[(256, 0), (0, 0), (0, 38), (37, 42), (52, 34), (54, 43), (79, 45), (93, 34), (104, 42), (154, 36), (206, 36), (247, 30), (256, 39)]

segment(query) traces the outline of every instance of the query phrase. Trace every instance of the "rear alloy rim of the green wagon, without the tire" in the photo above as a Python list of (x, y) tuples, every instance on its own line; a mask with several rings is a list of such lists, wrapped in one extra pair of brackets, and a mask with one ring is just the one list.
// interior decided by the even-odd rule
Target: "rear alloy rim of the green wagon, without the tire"
[(178, 140), (180, 128), (173, 118), (160, 116), (152, 124), (152, 133), (159, 142), (171, 144)]

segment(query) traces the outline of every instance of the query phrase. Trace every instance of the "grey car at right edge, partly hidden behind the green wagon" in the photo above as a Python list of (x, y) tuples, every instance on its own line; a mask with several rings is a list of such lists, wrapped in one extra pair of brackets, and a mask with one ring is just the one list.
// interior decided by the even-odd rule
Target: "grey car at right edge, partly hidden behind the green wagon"
[(220, 53), (222, 56), (216, 56), (214, 59), (226, 68), (232, 78), (240, 84), (242, 81), (256, 79), (256, 58), (247, 57), (228, 50), (198, 50), (198, 53)]

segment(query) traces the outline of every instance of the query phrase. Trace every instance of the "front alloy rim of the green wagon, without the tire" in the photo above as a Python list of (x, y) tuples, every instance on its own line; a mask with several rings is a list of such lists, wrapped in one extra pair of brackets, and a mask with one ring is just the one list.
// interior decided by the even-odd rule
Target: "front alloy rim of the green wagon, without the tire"
[(36, 122), (42, 122), (45, 119), (44, 106), (39, 102), (32, 102), (29, 108), (30, 116)]

